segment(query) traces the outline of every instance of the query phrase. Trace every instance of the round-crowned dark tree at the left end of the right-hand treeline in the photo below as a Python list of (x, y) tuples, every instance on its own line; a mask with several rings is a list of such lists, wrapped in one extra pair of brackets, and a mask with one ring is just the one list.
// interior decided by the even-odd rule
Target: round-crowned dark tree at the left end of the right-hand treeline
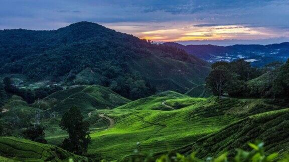
[(224, 93), (225, 88), (232, 79), (231, 72), (226, 66), (217, 66), (206, 78), (206, 85), (219, 97)]

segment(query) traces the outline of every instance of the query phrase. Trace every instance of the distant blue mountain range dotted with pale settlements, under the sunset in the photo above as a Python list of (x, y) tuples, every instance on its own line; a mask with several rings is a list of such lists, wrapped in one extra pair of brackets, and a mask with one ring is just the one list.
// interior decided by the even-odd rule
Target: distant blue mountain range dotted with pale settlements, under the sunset
[(209, 62), (233, 61), (243, 58), (252, 62), (254, 66), (263, 66), (271, 61), (285, 61), (289, 57), (289, 42), (269, 45), (182, 45), (176, 42), (165, 42), (163, 44), (184, 49), (186, 52), (195, 55)]

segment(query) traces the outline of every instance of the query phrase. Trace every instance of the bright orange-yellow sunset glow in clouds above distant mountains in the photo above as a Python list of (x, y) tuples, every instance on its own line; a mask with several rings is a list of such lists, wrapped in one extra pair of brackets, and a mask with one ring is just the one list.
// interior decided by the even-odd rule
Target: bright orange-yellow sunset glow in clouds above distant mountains
[(237, 25), (159, 29), (141, 32), (139, 35), (153, 41), (253, 39), (270, 36), (268, 33)]

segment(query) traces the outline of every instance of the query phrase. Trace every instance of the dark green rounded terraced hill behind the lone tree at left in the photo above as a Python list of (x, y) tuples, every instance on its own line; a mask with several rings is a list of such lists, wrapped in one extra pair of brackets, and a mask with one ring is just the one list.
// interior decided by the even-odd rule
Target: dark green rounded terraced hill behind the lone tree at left
[(75, 86), (57, 91), (45, 99), (52, 98), (59, 100), (59, 102), (51, 111), (61, 114), (72, 106), (81, 108), (81, 111), (87, 114), (94, 109), (113, 108), (130, 101), (101, 85)]

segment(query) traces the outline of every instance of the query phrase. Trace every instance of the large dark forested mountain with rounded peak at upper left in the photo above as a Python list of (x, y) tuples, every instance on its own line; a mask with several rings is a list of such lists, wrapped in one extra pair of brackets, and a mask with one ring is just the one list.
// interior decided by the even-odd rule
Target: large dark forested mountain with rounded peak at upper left
[[(152, 44), (92, 22), (57, 30), (0, 30), (0, 74), (26, 81), (101, 84), (123, 96), (185, 92), (204, 83), (209, 64), (176, 47)], [(142, 97), (142, 96), (137, 96)], [(137, 98), (136, 97), (136, 98)]]

